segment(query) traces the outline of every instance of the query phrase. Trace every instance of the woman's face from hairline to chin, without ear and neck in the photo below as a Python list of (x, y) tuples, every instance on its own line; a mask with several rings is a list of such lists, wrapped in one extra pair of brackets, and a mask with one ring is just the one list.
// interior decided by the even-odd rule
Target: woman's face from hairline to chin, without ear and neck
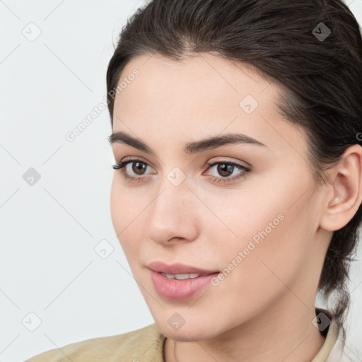
[(112, 222), (161, 332), (206, 339), (313, 308), (330, 235), (305, 136), (277, 112), (276, 83), (211, 54), (138, 57), (121, 81), (113, 133), (137, 143), (112, 142), (117, 163), (134, 160), (115, 170)]

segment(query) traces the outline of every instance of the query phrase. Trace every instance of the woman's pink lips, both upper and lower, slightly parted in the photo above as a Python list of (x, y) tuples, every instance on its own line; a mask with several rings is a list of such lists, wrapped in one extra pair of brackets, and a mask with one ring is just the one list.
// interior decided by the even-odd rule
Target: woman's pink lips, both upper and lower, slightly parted
[[(185, 300), (191, 298), (204, 287), (208, 286), (219, 271), (200, 269), (185, 264), (165, 264), (151, 262), (148, 264), (151, 280), (158, 295), (167, 300)], [(201, 274), (197, 278), (168, 279), (161, 273), (167, 274)]]

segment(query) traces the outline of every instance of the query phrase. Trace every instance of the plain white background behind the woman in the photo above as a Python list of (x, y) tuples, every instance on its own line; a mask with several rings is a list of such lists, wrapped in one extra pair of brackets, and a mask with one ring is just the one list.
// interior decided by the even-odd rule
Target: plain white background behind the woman
[[(153, 323), (110, 218), (107, 110), (74, 141), (65, 138), (103, 101), (113, 42), (143, 4), (0, 1), (0, 362)], [(346, 4), (362, 24), (362, 0)], [(33, 42), (23, 35), (40, 31)], [(23, 180), (29, 168), (40, 174), (33, 186)], [(106, 259), (94, 250), (103, 239), (114, 248)], [(347, 346), (356, 354), (361, 262), (351, 279)], [(33, 332), (29, 313), (41, 320)]]

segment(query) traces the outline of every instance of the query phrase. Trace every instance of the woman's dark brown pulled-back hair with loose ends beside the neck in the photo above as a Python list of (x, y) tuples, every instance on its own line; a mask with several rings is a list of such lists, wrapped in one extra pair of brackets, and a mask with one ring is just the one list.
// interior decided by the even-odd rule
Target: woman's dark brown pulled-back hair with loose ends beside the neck
[[(122, 28), (108, 64), (112, 125), (114, 90), (134, 57), (158, 53), (182, 60), (202, 52), (251, 64), (281, 86), (278, 108), (305, 129), (310, 170), (319, 185), (346, 148), (362, 145), (361, 32), (340, 0), (148, 2)], [(350, 305), (346, 279), (361, 217), (359, 206), (349, 223), (334, 231), (318, 286), (325, 302), (334, 300), (330, 308), (344, 341)]]

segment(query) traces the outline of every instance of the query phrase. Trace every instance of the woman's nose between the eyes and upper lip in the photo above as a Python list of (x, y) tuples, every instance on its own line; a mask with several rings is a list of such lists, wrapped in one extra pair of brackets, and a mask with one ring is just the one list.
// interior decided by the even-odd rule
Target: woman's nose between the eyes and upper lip
[(196, 239), (200, 226), (199, 200), (186, 182), (175, 186), (165, 180), (159, 190), (149, 206), (148, 238), (164, 246)]

